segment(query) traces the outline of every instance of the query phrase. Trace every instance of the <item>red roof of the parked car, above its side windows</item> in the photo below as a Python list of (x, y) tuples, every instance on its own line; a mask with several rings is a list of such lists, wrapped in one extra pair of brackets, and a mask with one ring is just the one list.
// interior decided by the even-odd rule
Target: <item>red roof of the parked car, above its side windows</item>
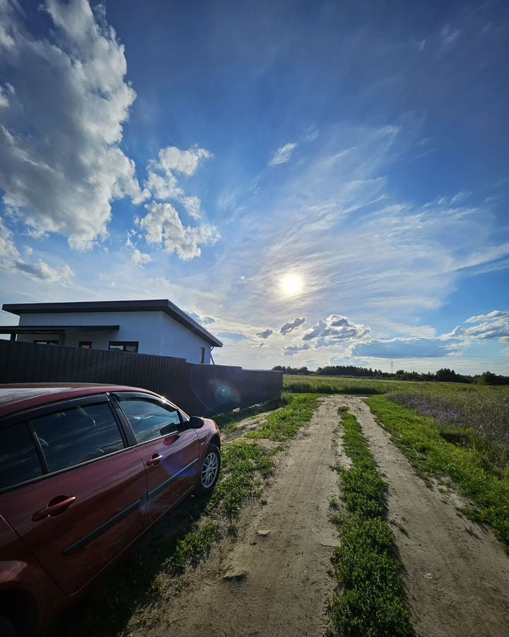
[(0, 418), (22, 409), (29, 409), (66, 398), (105, 394), (107, 391), (144, 391), (155, 394), (149, 389), (128, 385), (107, 385), (99, 383), (18, 383), (0, 385)]

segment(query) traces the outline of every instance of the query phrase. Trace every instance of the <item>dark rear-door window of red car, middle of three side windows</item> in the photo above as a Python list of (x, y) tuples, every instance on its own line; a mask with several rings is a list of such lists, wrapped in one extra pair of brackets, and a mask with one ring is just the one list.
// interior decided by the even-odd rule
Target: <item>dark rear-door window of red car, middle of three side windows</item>
[(124, 448), (117, 421), (105, 402), (63, 408), (30, 422), (50, 472)]

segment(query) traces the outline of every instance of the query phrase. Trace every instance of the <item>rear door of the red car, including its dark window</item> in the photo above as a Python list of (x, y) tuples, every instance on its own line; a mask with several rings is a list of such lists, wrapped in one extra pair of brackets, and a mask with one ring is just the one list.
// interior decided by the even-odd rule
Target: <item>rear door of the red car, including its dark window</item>
[(105, 395), (0, 425), (0, 510), (68, 595), (144, 530), (146, 471), (126, 447)]

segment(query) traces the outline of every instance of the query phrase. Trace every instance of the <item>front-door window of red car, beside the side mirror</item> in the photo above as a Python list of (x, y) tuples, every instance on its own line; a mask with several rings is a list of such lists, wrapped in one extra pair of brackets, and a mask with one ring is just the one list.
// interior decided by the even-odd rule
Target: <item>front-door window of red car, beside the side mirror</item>
[(136, 442), (148, 442), (175, 430), (181, 420), (177, 408), (148, 398), (118, 396), (122, 411), (129, 420)]

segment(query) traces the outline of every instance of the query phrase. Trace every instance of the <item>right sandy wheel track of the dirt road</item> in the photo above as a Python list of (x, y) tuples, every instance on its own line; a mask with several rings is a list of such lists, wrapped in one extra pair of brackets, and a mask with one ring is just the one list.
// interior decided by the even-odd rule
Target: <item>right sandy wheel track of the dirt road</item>
[[(388, 483), (390, 520), (421, 637), (509, 635), (509, 558), (491, 531), (458, 514), (460, 496), (428, 488), (359, 398), (356, 415)], [(462, 504), (464, 504), (461, 501)]]

